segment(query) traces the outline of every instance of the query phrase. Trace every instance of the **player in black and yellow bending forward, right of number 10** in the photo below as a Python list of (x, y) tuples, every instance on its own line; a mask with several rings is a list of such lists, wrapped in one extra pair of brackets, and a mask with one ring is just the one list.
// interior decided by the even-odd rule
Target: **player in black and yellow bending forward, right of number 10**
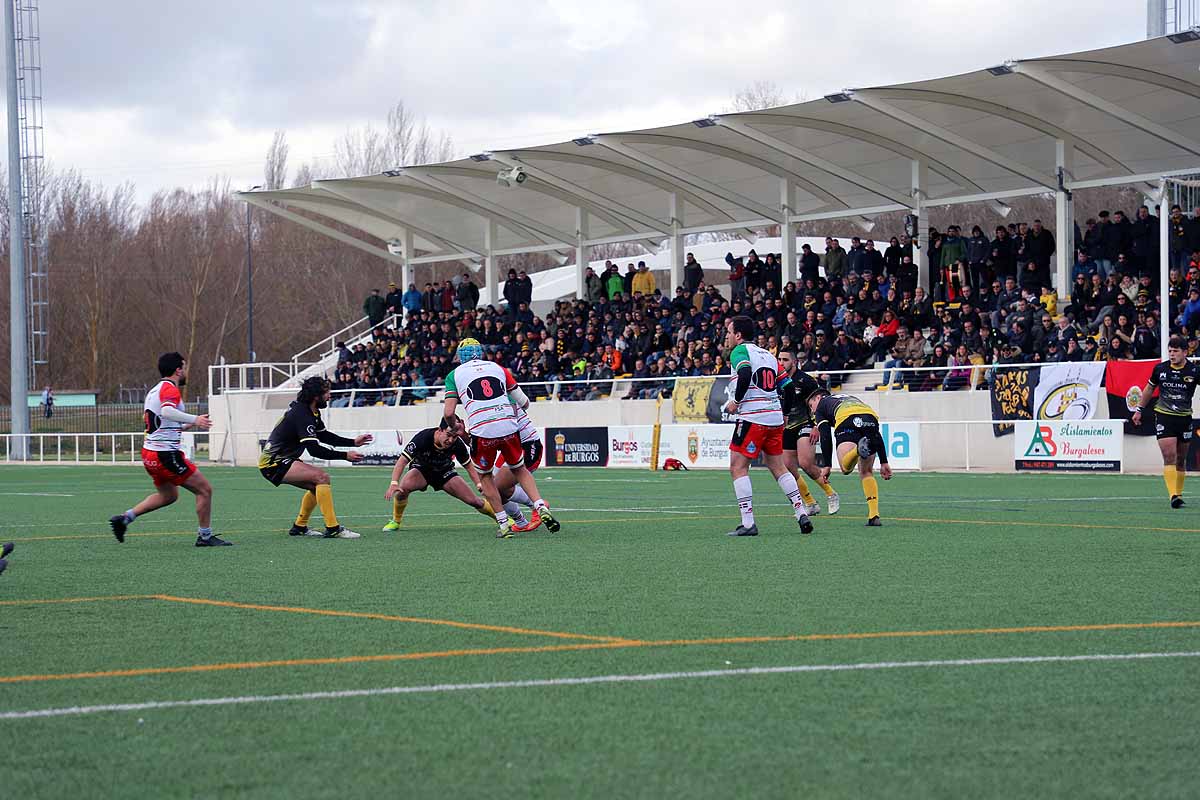
[(808, 403), (816, 423), (810, 438), (814, 443), (821, 443), (821, 450), (817, 451), (821, 476), (829, 480), (833, 455), (836, 455), (842, 475), (848, 475), (857, 465), (858, 475), (863, 479), (863, 497), (866, 498), (866, 524), (871, 528), (882, 525), (875, 457), (880, 458), (880, 474), (884, 481), (892, 479), (892, 468), (888, 465), (888, 451), (880, 431), (880, 417), (870, 405), (853, 395), (830, 395), (818, 389), (809, 395)]

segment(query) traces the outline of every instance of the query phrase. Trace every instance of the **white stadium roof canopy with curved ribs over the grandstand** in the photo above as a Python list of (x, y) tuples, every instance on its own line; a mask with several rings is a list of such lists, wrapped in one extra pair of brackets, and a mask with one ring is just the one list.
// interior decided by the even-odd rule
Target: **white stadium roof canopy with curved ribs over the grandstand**
[[(922, 205), (1002, 205), (1050, 192), (1063, 230), (1072, 190), (1157, 190), (1163, 175), (1200, 172), (1198, 66), (1200, 34), (1183, 31), (242, 198), (406, 267), (484, 263), (485, 302), (494, 299), (494, 257), (522, 252), (557, 251), (586, 264), (571, 251), (667, 241), (682, 264), (686, 234), (752, 237), (755, 228), (784, 222), (919, 215)], [(522, 182), (500, 185), (498, 174), (514, 168)], [(1060, 279), (1069, 270), (1069, 252), (1062, 255)], [(793, 264), (794, 247), (785, 257)]]

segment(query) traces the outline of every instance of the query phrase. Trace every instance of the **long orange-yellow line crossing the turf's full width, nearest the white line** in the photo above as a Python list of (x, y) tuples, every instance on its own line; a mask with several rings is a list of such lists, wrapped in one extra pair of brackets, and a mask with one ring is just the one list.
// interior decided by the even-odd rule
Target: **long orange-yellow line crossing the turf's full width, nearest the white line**
[(178, 673), (226, 672), (234, 669), (263, 669), (269, 667), (307, 667), (325, 664), (379, 663), (389, 661), (420, 661), (426, 658), (451, 658), (460, 656), (491, 656), (527, 652), (563, 652), (571, 650), (617, 650), (625, 648), (672, 648), (715, 644), (760, 644), (770, 642), (835, 642), (850, 639), (878, 639), (902, 637), (943, 637), (943, 636), (989, 636), (1010, 633), (1060, 633), (1078, 631), (1130, 631), (1147, 628), (1192, 628), (1200, 627), (1200, 621), (1164, 621), (1164, 622), (1109, 622), (1100, 625), (1026, 625), (1021, 627), (971, 627), (932, 631), (871, 631), (862, 633), (799, 633), (794, 636), (739, 636), (716, 637), (707, 639), (664, 639), (635, 640), (618, 639), (614, 642), (588, 642), (575, 644), (547, 644), (528, 648), (481, 648), (462, 650), (434, 650), (425, 652), (396, 652), (368, 656), (336, 656), (328, 658), (287, 658), (281, 661), (244, 661), (212, 664), (191, 664), (186, 667), (143, 667), (134, 669), (108, 669), (100, 672), (50, 673), (44, 675), (8, 675), (0, 678), (0, 684), (24, 684), (49, 680), (82, 680), (91, 678), (131, 678), (140, 675), (167, 675)]

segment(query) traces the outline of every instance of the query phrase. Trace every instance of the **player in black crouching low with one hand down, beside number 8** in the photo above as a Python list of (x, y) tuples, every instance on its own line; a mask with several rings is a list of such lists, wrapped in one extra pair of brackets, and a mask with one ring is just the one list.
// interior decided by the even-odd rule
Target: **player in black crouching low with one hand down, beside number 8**
[[(455, 462), (467, 465), (474, 480), (474, 468), (470, 465), (470, 452), (458, 438), (458, 431), (450, 427), (445, 420), (437, 428), (425, 428), (404, 445), (404, 451), (396, 459), (391, 470), (391, 483), (384, 492), (384, 500), (391, 500), (391, 522), (383, 527), (385, 531), (400, 530), (408, 507), (408, 497), (413, 492), (424, 492), (432, 487), (434, 492), (445, 492), (462, 500), (475, 511), (496, 519), (496, 512), (487, 500), (481, 499), (455, 469)], [(408, 468), (412, 469), (408, 469)], [(408, 469), (407, 473), (404, 470)], [(401, 477), (403, 475), (403, 477)], [(476, 483), (479, 481), (475, 481)]]

